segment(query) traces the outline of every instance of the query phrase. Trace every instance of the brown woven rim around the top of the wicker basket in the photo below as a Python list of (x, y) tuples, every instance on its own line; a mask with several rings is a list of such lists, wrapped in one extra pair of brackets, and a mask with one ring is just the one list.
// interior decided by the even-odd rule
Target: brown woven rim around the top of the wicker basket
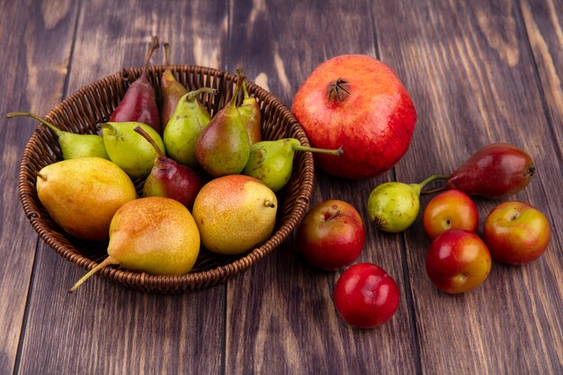
[[(230, 80), (231, 82), (237, 81), (237, 76), (229, 73), (228, 71), (223, 71), (213, 67), (200, 67), (200, 66), (190, 66), (190, 65), (171, 65), (171, 70), (175, 72), (199, 72), (201, 75), (214, 75), (217, 77), (222, 77), (223, 79)], [(139, 73), (142, 71), (141, 67), (125, 67), (128, 71), (133, 71)], [(149, 67), (149, 74), (156, 75), (159, 72), (164, 71), (165, 66), (151, 66)], [(76, 92), (70, 94), (61, 103), (58, 103), (53, 107), (48, 114), (45, 116), (47, 121), (51, 121), (57, 112), (63, 112), (63, 109), (75, 103), (78, 98), (84, 96), (92, 87), (97, 85), (106, 85), (108, 82), (113, 82), (114, 80), (119, 80), (122, 77), (122, 71), (113, 73), (109, 76), (104, 76), (99, 78), (88, 85), (80, 87)], [(276, 110), (281, 112), (281, 116), (288, 119), (288, 126), (296, 133), (294, 138), (299, 138), (299, 141), (309, 146), (308, 138), (305, 131), (300, 127), (299, 122), (295, 120), (291, 112), (287, 107), (281, 103), (281, 101), (275, 97), (273, 94), (264, 90), (264, 88), (255, 83), (248, 81), (246, 79), (246, 86), (251, 94), (255, 94), (255, 97), (261, 98), (262, 101), (269, 101), (276, 106)], [(27, 219), (30, 220), (32, 228), (39, 234), (40, 238), (50, 246), (55, 252), (63, 256), (70, 263), (76, 263), (77, 265), (85, 268), (86, 270), (91, 270), (94, 268), (98, 262), (88, 258), (85, 254), (81, 254), (79, 249), (74, 246), (68, 246), (66, 244), (58, 241), (57, 238), (51, 235), (54, 230), (49, 228), (47, 224), (40, 218), (39, 210), (33, 199), (33, 190), (30, 189), (27, 183), (27, 174), (24, 171), (27, 169), (27, 165), (31, 164), (32, 155), (31, 147), (35, 143), (40, 143), (40, 138), (38, 131), (31, 135), (31, 138), (26, 144), (22, 160), (20, 163), (18, 188), (20, 200), (22, 202), (22, 208), (25, 212)], [(276, 224), (276, 229), (264, 242), (263, 245), (255, 247), (254, 249), (248, 251), (244, 256), (237, 258), (231, 263), (225, 265), (219, 265), (215, 268), (209, 270), (203, 270), (199, 272), (189, 272), (183, 275), (152, 275), (146, 272), (133, 272), (125, 269), (114, 268), (114, 267), (104, 267), (102, 270), (97, 272), (98, 275), (104, 278), (110, 279), (112, 281), (118, 281), (118, 283), (123, 283), (125, 281), (126, 286), (134, 287), (134, 289), (142, 289), (145, 291), (156, 291), (162, 292), (174, 292), (174, 291), (186, 291), (186, 290), (196, 290), (205, 288), (208, 286), (216, 285), (227, 281), (231, 277), (235, 276), (237, 273), (244, 272), (250, 266), (263, 259), (264, 256), (270, 254), (281, 246), (281, 243), (290, 237), (293, 229), (297, 227), (300, 219), (302, 219), (305, 211), (308, 208), (308, 202), (313, 190), (314, 183), (314, 165), (313, 156), (310, 153), (304, 153), (304, 168), (300, 171), (303, 174), (303, 183), (299, 186), (299, 195), (295, 199), (293, 206), (290, 209), (290, 216), (281, 225)], [(35, 191), (35, 195), (37, 192)], [(130, 281), (128, 281), (130, 280)], [(164, 288), (164, 289), (163, 289)]]

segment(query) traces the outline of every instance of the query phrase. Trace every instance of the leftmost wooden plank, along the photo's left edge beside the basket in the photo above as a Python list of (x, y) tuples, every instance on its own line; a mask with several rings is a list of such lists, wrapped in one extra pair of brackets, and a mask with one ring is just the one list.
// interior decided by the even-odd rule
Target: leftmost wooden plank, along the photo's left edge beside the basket
[(25, 325), (25, 307), (37, 235), (22, 210), (18, 173), (23, 147), (37, 121), (7, 121), (4, 114), (30, 111), (44, 115), (58, 102), (66, 68), (76, 4), (0, 3), (0, 373), (13, 373)]

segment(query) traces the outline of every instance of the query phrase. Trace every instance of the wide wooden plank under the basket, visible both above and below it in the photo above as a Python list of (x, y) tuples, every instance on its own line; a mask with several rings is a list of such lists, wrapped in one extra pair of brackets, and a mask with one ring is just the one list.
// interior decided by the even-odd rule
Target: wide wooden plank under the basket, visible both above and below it
[[(141, 66), (151, 35), (171, 42), (174, 63), (220, 65), (227, 18), (223, 4), (82, 2), (68, 93), (123, 66)], [(211, 53), (211, 50), (217, 53)], [(156, 52), (153, 63), (164, 62)], [(40, 98), (33, 96), (33, 101)], [(148, 295), (85, 273), (48, 246), (38, 254), (22, 347), (21, 373), (207, 374), (222, 366), (224, 292)]]

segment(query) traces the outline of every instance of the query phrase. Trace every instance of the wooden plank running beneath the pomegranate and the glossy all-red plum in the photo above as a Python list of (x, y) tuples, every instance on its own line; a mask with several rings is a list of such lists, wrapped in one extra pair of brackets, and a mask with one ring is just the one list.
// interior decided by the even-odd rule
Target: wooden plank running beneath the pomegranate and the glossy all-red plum
[[(344, 53), (376, 54), (368, 2), (323, 1), (292, 5), (234, 2), (228, 67), (241, 66), (258, 85), (288, 107), (317, 64)], [(330, 198), (364, 205), (377, 183), (337, 180), (317, 173), (311, 204)], [(401, 291), (403, 253), (395, 237), (368, 230), (359, 261), (375, 262)], [(407, 299), (388, 325), (373, 330), (346, 326), (337, 316), (333, 288), (339, 272), (319, 272), (304, 263), (290, 238), (278, 251), (228, 285), (229, 374), (414, 373), (415, 349)], [(400, 355), (397, 355), (400, 353)]]

